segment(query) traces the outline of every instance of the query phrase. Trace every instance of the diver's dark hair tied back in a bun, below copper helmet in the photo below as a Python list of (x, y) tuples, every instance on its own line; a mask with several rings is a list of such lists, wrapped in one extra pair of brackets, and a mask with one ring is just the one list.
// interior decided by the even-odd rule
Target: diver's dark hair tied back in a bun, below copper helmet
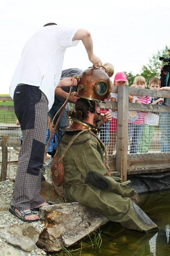
[[(94, 101), (90, 101), (90, 102), (91, 102), (92, 107), (95, 108), (95, 102)], [(90, 107), (91, 106), (90, 106), (88, 100), (80, 98), (76, 101), (75, 110), (71, 109), (70, 114), (72, 116), (77, 117), (80, 120), (87, 120), (88, 111), (89, 111)]]

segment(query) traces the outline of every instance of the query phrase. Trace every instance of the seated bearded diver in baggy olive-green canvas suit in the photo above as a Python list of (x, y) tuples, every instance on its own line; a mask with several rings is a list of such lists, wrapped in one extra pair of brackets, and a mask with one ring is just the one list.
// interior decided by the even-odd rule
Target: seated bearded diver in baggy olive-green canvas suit
[(65, 133), (56, 153), (58, 162), (62, 161), (64, 167), (63, 195), (68, 201), (98, 211), (125, 228), (144, 232), (157, 228), (130, 199), (135, 195), (134, 189), (110, 176), (107, 149), (95, 135), (101, 120), (98, 103), (94, 97), (78, 97), (80, 99), (76, 101), (75, 111), (70, 115), (72, 122), (69, 128), (63, 128)]

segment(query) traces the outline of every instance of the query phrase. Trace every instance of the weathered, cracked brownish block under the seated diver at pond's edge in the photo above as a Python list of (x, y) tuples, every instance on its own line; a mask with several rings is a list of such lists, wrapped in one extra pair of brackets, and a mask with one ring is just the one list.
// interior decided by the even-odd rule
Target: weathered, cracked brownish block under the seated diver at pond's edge
[(57, 252), (69, 247), (109, 220), (99, 212), (79, 203), (53, 204), (40, 208), (44, 230), (37, 246), (48, 252)]

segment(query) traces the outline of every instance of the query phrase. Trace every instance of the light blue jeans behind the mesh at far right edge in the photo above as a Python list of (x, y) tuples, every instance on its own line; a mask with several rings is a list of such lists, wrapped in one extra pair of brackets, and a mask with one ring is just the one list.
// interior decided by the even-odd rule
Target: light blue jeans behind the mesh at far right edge
[(170, 139), (170, 113), (163, 112), (160, 115), (160, 150), (161, 152), (169, 152)]

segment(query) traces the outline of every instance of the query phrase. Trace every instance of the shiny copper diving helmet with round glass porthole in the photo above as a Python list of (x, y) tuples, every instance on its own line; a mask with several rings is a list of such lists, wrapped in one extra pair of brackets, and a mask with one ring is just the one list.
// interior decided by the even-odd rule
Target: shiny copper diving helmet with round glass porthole
[(101, 68), (90, 67), (81, 72), (76, 96), (106, 103), (104, 100), (109, 96), (112, 86), (107, 75), (107, 69), (104, 66), (102, 67), (106, 71)]

